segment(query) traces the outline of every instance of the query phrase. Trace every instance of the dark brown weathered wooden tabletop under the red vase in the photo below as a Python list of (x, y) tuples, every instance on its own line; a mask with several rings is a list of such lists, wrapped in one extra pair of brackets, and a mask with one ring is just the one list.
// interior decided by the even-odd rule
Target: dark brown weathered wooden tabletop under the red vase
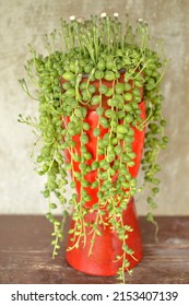
[[(154, 227), (140, 217), (144, 258), (129, 284), (189, 284), (189, 216), (158, 216)], [(91, 276), (72, 269), (61, 255), (51, 259), (51, 225), (44, 216), (0, 216), (0, 283), (113, 284), (115, 276)]]

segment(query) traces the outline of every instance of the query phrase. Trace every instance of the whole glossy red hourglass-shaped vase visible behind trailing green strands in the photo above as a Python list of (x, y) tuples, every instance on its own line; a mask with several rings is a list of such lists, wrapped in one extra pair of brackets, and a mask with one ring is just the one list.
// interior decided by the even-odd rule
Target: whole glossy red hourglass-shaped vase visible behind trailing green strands
[[(123, 82), (123, 75), (120, 76), (119, 82)], [(99, 81), (91, 82), (96, 87), (99, 85)], [(106, 84), (108, 87), (113, 86), (113, 82), (103, 81), (104, 84)], [(142, 99), (143, 91), (141, 89), (141, 99)], [(103, 95), (103, 107), (109, 108), (107, 105), (107, 97)], [(85, 117), (85, 120), (90, 125), (90, 130), (86, 131), (88, 136), (88, 143), (86, 144), (86, 148), (88, 152), (92, 154), (93, 158), (87, 161), (88, 165), (91, 165), (96, 160), (96, 146), (97, 146), (97, 139), (93, 136), (93, 130), (98, 125), (98, 115), (95, 110), (96, 106), (92, 106), (87, 108), (87, 115)], [(139, 103), (139, 108), (141, 109), (141, 118), (145, 118), (145, 105), (144, 101)], [(69, 118), (64, 118), (64, 122), (67, 123), (69, 121)], [(132, 177), (135, 177), (140, 167), (140, 162), (142, 158), (142, 151), (143, 151), (143, 143), (144, 143), (144, 130), (139, 131), (135, 128), (134, 130), (134, 141), (132, 143), (132, 150), (135, 153), (135, 164), (133, 167), (130, 167), (130, 174)], [(104, 129), (101, 127), (101, 138), (107, 132), (107, 129)], [(73, 140), (76, 142), (76, 153), (81, 155), (81, 143), (80, 143), (80, 136), (74, 136)], [(71, 161), (71, 155), (67, 151), (66, 157), (68, 162)], [(99, 156), (98, 160), (102, 160), (103, 156)], [(75, 172), (80, 172), (79, 163), (72, 161), (73, 168)], [(85, 176), (85, 179), (88, 183), (93, 183), (96, 180), (97, 172), (93, 170), (90, 174)], [(117, 175), (115, 175), (114, 180), (116, 180)], [(80, 181), (75, 181), (76, 186), (76, 192), (80, 199), (81, 193), (81, 184)], [(88, 209), (88, 213), (84, 216), (85, 222), (87, 223), (94, 223), (96, 217), (96, 212), (90, 212), (90, 208), (93, 207), (94, 203), (98, 201), (97, 199), (97, 192), (98, 189), (92, 189), (90, 187), (84, 188), (87, 193), (91, 196), (91, 201), (88, 201), (85, 204), (85, 208)], [(104, 217), (108, 217), (108, 212), (105, 209)], [(140, 226), (139, 226), (139, 220), (135, 212), (135, 205), (133, 198), (130, 199), (130, 202), (128, 203), (127, 209), (122, 212), (122, 220), (123, 225), (129, 225), (133, 228), (132, 232), (129, 233), (129, 237), (127, 239), (127, 245), (129, 248), (133, 250), (133, 255), (128, 256), (128, 260), (130, 262), (129, 269), (132, 269), (142, 258), (142, 240), (141, 240), (141, 233), (140, 233)], [(72, 220), (70, 223), (70, 229), (74, 228), (75, 222)], [(102, 235), (95, 237), (95, 244), (93, 246), (92, 254), (90, 254), (91, 249), (91, 239), (92, 239), (92, 233), (91, 228), (87, 229), (86, 227), (86, 240), (85, 246), (83, 246), (83, 242), (81, 240), (79, 244), (79, 247), (75, 248), (73, 245), (74, 242), (74, 234), (69, 234), (68, 236), (68, 249), (66, 254), (67, 261), (76, 270), (82, 271), (84, 273), (93, 274), (93, 275), (115, 275), (117, 273), (117, 270), (119, 267), (121, 267), (120, 261), (116, 261), (116, 256), (122, 254), (122, 242), (118, 238), (117, 233), (113, 231), (109, 226), (102, 226), (99, 225), (98, 229), (101, 231)], [(72, 248), (73, 247), (73, 248)]]

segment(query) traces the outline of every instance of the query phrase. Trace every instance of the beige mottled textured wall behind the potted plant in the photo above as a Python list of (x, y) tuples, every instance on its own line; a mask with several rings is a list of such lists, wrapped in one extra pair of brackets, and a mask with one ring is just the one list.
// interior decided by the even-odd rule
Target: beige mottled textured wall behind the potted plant
[[(164, 165), (157, 214), (189, 214), (189, 1), (188, 0), (0, 0), (0, 213), (44, 213), (43, 179), (29, 158), (29, 128), (17, 114), (35, 114), (17, 80), (24, 75), (26, 45), (40, 46), (42, 35), (59, 26), (60, 17), (102, 11), (143, 17), (151, 33), (166, 42), (172, 58), (165, 82), (164, 113), (170, 143), (161, 155)], [(69, 196), (70, 190), (68, 190)], [(146, 204), (138, 197), (138, 211)]]

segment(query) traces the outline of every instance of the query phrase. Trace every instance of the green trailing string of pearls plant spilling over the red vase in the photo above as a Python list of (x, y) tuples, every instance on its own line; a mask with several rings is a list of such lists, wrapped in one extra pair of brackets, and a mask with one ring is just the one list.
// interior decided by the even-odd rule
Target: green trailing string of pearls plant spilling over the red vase
[[(122, 210), (131, 197), (147, 187), (147, 220), (155, 223), (153, 210), (156, 208), (155, 196), (160, 185), (156, 174), (161, 170), (157, 157), (168, 142), (164, 133), (166, 121), (161, 93), (167, 67), (163, 43), (150, 36), (149, 26), (143, 20), (139, 20), (133, 27), (127, 16), (123, 26), (118, 13), (113, 16), (102, 13), (88, 20), (74, 16), (69, 22), (62, 20), (59, 32), (54, 31), (45, 36), (45, 47), (46, 55), (40, 55), (29, 46), (31, 56), (25, 66), (28, 81), (20, 80), (26, 94), (38, 103), (38, 118), (23, 118), (20, 115), (19, 121), (34, 127), (39, 133), (42, 148), (36, 163), (37, 173), (47, 177), (43, 193), (48, 200), (47, 219), (54, 225), (52, 257), (58, 255), (60, 248), (69, 205), (74, 208), (74, 246), (78, 247), (79, 242), (85, 239), (85, 227), (90, 226), (94, 234), (91, 252), (95, 236), (101, 235), (97, 225), (104, 222), (102, 215), (106, 208), (109, 217), (105, 225), (110, 225), (122, 242), (122, 255), (115, 260), (121, 262), (118, 279), (125, 280), (125, 270), (129, 269), (128, 256), (133, 256), (133, 251), (127, 246), (132, 228), (122, 226)], [(119, 81), (121, 74), (123, 83)], [(99, 82), (98, 90), (93, 84), (95, 80)], [(103, 80), (111, 82), (111, 87), (103, 84)], [(37, 89), (35, 97), (31, 94), (31, 84)], [(141, 89), (146, 107), (145, 120), (141, 118), (139, 108)], [(103, 107), (104, 96), (108, 98), (108, 109)], [(96, 107), (99, 117), (98, 126), (93, 131), (97, 139), (97, 156), (93, 163), (90, 163), (93, 156), (87, 150), (86, 133), (91, 127), (85, 122), (90, 106)], [(70, 121), (66, 125), (67, 117)], [(101, 128), (107, 129), (103, 137)], [(142, 160), (144, 181), (141, 188), (129, 172), (135, 158), (132, 150), (133, 128), (146, 129)], [(76, 134), (80, 134), (81, 155), (75, 153), (73, 137)], [(64, 150), (70, 152), (72, 161), (80, 163), (80, 172), (74, 170), (72, 162), (66, 162)], [(99, 156), (104, 157), (99, 160)], [(68, 170), (72, 170), (73, 177), (69, 204), (66, 195)], [(97, 170), (97, 180), (90, 186), (85, 176), (93, 170)], [(116, 173), (118, 177), (115, 181)], [(76, 181), (81, 183), (80, 200), (75, 192)], [(98, 188), (98, 202), (90, 210), (97, 212), (95, 224), (84, 222), (86, 204), (91, 200), (86, 187)], [(52, 201), (52, 195), (57, 201)], [(62, 221), (56, 217), (58, 205), (62, 208)]]

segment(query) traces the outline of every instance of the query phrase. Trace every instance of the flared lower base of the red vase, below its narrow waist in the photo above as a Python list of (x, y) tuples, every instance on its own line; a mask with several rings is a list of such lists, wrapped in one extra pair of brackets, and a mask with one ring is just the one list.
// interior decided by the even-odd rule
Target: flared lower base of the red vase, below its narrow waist
[[(107, 216), (108, 213), (104, 215), (104, 217)], [(133, 232), (129, 233), (129, 238), (127, 239), (128, 247), (134, 251), (133, 257), (128, 256), (127, 258), (130, 262), (129, 269), (132, 269), (142, 258), (140, 225), (133, 198), (130, 200), (127, 210), (123, 211), (122, 216), (123, 224), (130, 225), (133, 228)], [(94, 223), (95, 219), (95, 212), (85, 215), (86, 222)], [(74, 221), (71, 221), (70, 228), (74, 228)], [(79, 248), (67, 251), (67, 261), (74, 269), (87, 274), (101, 276), (115, 275), (121, 266), (120, 261), (115, 261), (116, 256), (122, 255), (121, 240), (109, 226), (104, 228), (104, 226), (99, 225), (98, 229), (102, 232), (102, 236), (96, 236), (92, 254), (88, 256), (92, 234), (86, 229), (87, 239), (85, 247), (83, 248), (83, 244), (81, 243)], [(72, 237), (73, 235), (69, 236), (68, 247), (73, 246), (73, 242), (71, 242)]]

